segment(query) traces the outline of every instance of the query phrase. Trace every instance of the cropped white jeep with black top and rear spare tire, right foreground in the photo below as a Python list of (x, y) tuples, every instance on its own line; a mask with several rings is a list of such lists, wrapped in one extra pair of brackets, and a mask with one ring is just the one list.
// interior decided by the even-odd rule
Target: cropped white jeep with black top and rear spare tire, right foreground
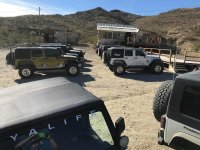
[(200, 150), (200, 71), (163, 82), (155, 94), (153, 112), (160, 121), (159, 144)]

